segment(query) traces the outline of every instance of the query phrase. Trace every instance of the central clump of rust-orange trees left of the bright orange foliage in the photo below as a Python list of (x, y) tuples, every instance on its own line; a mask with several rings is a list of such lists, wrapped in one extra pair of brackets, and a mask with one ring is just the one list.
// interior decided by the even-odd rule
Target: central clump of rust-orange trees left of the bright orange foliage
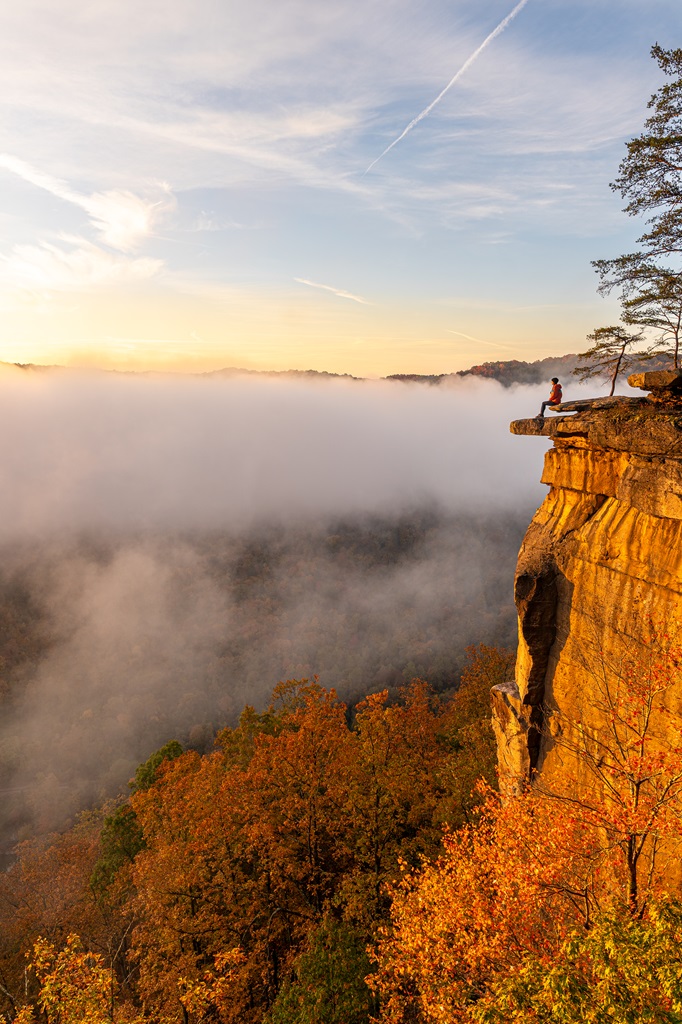
[(367, 697), (351, 729), (334, 691), (303, 681), (264, 715), (247, 710), (212, 756), (166, 763), (132, 798), (146, 841), (134, 868), (145, 1002), (179, 1020), (181, 991), (239, 949), (219, 1020), (260, 1021), (330, 910), (369, 940), (399, 856), (416, 864), (439, 846), (444, 735), (424, 683), (397, 705)]

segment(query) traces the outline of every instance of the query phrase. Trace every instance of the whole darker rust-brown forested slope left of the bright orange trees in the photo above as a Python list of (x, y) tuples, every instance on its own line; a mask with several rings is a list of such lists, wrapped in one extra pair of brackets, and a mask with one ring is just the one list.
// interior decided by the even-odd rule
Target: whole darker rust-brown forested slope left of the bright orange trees
[[(25, 843), (0, 877), (3, 1012), (35, 1004), (56, 971), (50, 1020), (368, 1021), (387, 885), (475, 813), (475, 779), (494, 778), (487, 693), (511, 664), (472, 649), (454, 695), (416, 680), (351, 707), (288, 682), (215, 751), (167, 744), (129, 800)], [(67, 1006), (75, 976), (80, 1010)], [(78, 1017), (88, 985), (92, 1016)]]

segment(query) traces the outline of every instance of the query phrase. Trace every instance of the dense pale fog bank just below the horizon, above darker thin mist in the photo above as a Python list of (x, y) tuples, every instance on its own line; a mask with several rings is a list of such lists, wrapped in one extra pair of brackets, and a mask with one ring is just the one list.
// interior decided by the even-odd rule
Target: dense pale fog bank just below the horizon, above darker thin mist
[(509, 421), (545, 390), (4, 375), (0, 536), (518, 507), (541, 496), (546, 442)]

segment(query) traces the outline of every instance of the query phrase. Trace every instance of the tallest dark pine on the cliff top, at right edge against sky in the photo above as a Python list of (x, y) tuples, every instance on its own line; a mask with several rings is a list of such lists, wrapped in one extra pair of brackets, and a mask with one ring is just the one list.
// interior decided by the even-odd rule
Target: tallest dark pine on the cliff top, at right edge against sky
[(658, 334), (657, 353), (677, 369), (682, 325), (682, 49), (657, 44), (651, 56), (671, 79), (649, 100), (652, 114), (611, 188), (627, 200), (625, 212), (645, 216), (648, 229), (636, 252), (593, 261), (599, 292), (621, 293), (623, 321)]

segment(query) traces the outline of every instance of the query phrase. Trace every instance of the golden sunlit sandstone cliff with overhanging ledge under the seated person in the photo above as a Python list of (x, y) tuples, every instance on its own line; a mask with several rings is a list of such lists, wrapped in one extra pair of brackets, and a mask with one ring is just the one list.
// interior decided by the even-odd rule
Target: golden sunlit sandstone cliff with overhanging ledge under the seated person
[(566, 730), (596, 733), (598, 694), (624, 652), (682, 618), (682, 375), (630, 383), (650, 393), (564, 402), (559, 416), (511, 424), (554, 441), (542, 476), (549, 494), (516, 570), (516, 677), (494, 690), (511, 791), (536, 771), (564, 782), (580, 772)]

